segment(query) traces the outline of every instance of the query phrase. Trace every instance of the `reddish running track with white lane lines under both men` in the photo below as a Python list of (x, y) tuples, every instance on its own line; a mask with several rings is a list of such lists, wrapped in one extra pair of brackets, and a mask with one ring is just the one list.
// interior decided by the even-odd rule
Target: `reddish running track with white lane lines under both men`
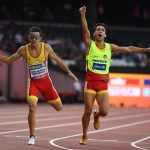
[(91, 116), (88, 143), (79, 145), (83, 108), (65, 104), (57, 112), (39, 103), (35, 145), (27, 145), (28, 105), (0, 104), (0, 150), (150, 150), (150, 109), (110, 107), (99, 130), (94, 130)]

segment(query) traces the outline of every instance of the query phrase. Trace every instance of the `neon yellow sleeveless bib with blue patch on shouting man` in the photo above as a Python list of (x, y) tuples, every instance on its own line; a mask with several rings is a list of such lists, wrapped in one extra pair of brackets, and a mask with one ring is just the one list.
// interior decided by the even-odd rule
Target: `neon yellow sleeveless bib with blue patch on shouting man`
[(101, 50), (96, 46), (96, 43), (92, 41), (86, 60), (86, 70), (88, 69), (96, 74), (108, 74), (111, 65), (110, 44), (105, 43), (105, 48)]

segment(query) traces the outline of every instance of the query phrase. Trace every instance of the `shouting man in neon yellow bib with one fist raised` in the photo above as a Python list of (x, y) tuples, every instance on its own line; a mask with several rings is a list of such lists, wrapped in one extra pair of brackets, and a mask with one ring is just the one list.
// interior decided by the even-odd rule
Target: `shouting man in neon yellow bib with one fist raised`
[(150, 48), (139, 48), (134, 46), (120, 47), (115, 44), (104, 42), (107, 33), (107, 26), (104, 23), (97, 23), (94, 27), (93, 41), (90, 37), (86, 21), (86, 6), (79, 9), (81, 16), (81, 26), (83, 32), (83, 41), (86, 46), (86, 79), (84, 87), (84, 114), (82, 116), (83, 136), (80, 144), (85, 145), (88, 140), (87, 130), (92, 114), (93, 103), (95, 99), (99, 105), (99, 110), (95, 110), (94, 128), (100, 127), (100, 116), (107, 116), (109, 111), (109, 93), (108, 79), (109, 67), (111, 65), (111, 52), (135, 53), (150, 52)]

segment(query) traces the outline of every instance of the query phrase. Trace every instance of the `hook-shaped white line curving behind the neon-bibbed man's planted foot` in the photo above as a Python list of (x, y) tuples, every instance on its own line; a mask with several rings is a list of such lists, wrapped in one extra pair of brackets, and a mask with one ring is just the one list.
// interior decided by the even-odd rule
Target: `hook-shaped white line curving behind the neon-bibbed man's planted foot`
[[(149, 122), (150, 122), (150, 120), (145, 120), (145, 121), (140, 121), (140, 122), (134, 122), (134, 123), (125, 124), (125, 125), (121, 125), (121, 126), (115, 126), (115, 127), (111, 127), (111, 128), (105, 128), (105, 129), (101, 129), (101, 130), (91, 131), (91, 132), (88, 132), (88, 134), (93, 134), (93, 133), (98, 133), (98, 132), (104, 132), (104, 131), (109, 131), (109, 130), (114, 130), (114, 129), (119, 129), (119, 128), (125, 128), (125, 127), (135, 126), (135, 125), (139, 125), (139, 124), (149, 123)], [(70, 149), (70, 148), (59, 146), (59, 145), (55, 144), (54, 142), (58, 141), (58, 140), (62, 140), (62, 139), (76, 137), (76, 136), (82, 136), (82, 133), (81, 134), (71, 135), (71, 136), (65, 136), (65, 137), (61, 137), (61, 138), (56, 138), (56, 139), (50, 140), (49, 143), (51, 145), (53, 145), (55, 147), (58, 147), (58, 148), (61, 148), (61, 149), (73, 150), (73, 149)]]

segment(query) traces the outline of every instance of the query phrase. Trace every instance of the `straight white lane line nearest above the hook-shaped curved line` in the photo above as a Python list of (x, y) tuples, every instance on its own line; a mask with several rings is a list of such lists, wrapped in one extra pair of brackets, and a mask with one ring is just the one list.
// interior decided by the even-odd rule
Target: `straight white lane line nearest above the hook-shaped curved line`
[[(113, 118), (102, 118), (101, 121), (111, 121), (111, 120), (118, 120), (118, 119), (121, 120), (121, 119), (143, 117), (143, 116), (149, 116), (149, 113), (129, 115), (129, 116), (121, 116), (121, 117), (113, 117)], [(75, 118), (81, 118), (81, 115), (78, 115), (78, 116), (65, 116), (65, 117), (57, 117), (57, 118), (55, 117), (55, 118), (37, 119), (36, 122), (51, 121), (51, 120), (66, 120), (66, 119), (75, 119)], [(0, 125), (19, 124), (19, 123), (27, 123), (27, 120), (2, 122), (2, 123), (0, 123)]]

